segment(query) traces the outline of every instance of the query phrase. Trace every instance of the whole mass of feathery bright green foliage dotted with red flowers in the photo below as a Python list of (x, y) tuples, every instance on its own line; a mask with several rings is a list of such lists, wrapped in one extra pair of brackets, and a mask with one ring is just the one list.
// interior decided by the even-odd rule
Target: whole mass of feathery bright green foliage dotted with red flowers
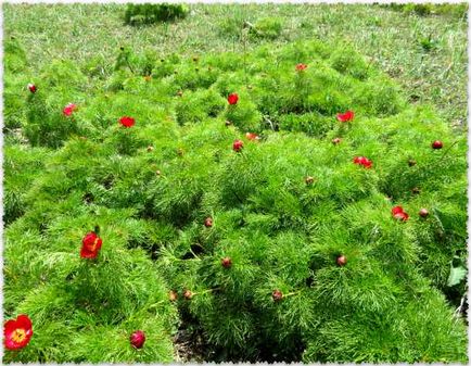
[[(35, 330), (7, 362), (167, 362), (181, 319), (216, 361), (467, 362), (444, 295), (464, 286), (449, 276), (466, 262), (467, 141), (433, 108), (345, 45), (123, 47), (102, 65), (31, 74), (5, 45), (4, 314)], [(100, 255), (80, 258), (93, 229)]]

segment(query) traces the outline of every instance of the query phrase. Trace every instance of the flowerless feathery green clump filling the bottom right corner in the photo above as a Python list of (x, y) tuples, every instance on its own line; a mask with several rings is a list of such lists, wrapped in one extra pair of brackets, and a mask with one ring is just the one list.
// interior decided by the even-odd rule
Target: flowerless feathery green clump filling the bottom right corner
[(448, 320), (450, 316), (442, 296), (430, 291), (419, 292), (413, 302), (382, 315), (352, 312), (326, 321), (303, 361), (431, 363), (459, 357), (462, 362), (467, 357), (466, 341), (460, 336), (461, 327)]

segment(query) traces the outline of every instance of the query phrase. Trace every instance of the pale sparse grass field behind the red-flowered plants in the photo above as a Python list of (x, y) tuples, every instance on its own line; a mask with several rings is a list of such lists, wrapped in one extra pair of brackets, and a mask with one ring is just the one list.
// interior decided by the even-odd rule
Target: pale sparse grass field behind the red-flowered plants
[[(181, 22), (130, 27), (124, 11), (124, 4), (4, 4), (4, 35), (23, 43), (35, 71), (55, 58), (81, 63), (101, 55), (112, 63), (120, 46), (193, 56), (249, 51), (264, 42), (344, 39), (397, 79), (411, 101), (434, 104), (451, 126), (466, 125), (466, 17), (422, 17), (362, 4), (192, 4)], [(241, 39), (238, 25), (266, 17), (282, 22), (277, 39)]]

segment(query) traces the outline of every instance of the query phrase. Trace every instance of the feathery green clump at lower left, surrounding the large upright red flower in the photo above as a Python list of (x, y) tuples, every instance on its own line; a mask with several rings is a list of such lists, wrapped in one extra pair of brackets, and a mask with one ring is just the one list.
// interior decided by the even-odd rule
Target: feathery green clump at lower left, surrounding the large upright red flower
[[(173, 359), (170, 332), (176, 313), (165, 285), (141, 249), (126, 248), (126, 228), (132, 223), (126, 220), (126, 213), (107, 215), (102, 212), (97, 218), (104, 224), (102, 238), (106, 245), (98, 261), (84, 261), (77, 255), (81, 232), (76, 225), (93, 223), (90, 214), (76, 219), (56, 218), (48, 228), (46, 247), (37, 237), (33, 241), (31, 235), (8, 245), (7, 289), (22, 291), (21, 287), (33, 285), (25, 283), (25, 279), (33, 279), (28, 274), (38, 277), (29, 293), (15, 299), (15, 312), (34, 319), (34, 339), (17, 356), (8, 353), (7, 362)], [(116, 217), (122, 224), (110, 226), (107, 223), (116, 222)], [(15, 226), (10, 230), (14, 231)], [(14, 266), (10, 258), (21, 260), (24, 251), (30, 253), (29, 262), (25, 258), (22, 265)], [(148, 338), (143, 352), (136, 352), (129, 344), (129, 336), (137, 329)]]

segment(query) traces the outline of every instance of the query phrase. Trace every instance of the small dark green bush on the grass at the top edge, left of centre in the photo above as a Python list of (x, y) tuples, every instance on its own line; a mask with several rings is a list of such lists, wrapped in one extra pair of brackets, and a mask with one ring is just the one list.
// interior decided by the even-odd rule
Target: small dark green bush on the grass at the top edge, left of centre
[(124, 15), (128, 25), (149, 25), (161, 22), (174, 22), (186, 17), (188, 8), (184, 4), (132, 4), (129, 3)]

